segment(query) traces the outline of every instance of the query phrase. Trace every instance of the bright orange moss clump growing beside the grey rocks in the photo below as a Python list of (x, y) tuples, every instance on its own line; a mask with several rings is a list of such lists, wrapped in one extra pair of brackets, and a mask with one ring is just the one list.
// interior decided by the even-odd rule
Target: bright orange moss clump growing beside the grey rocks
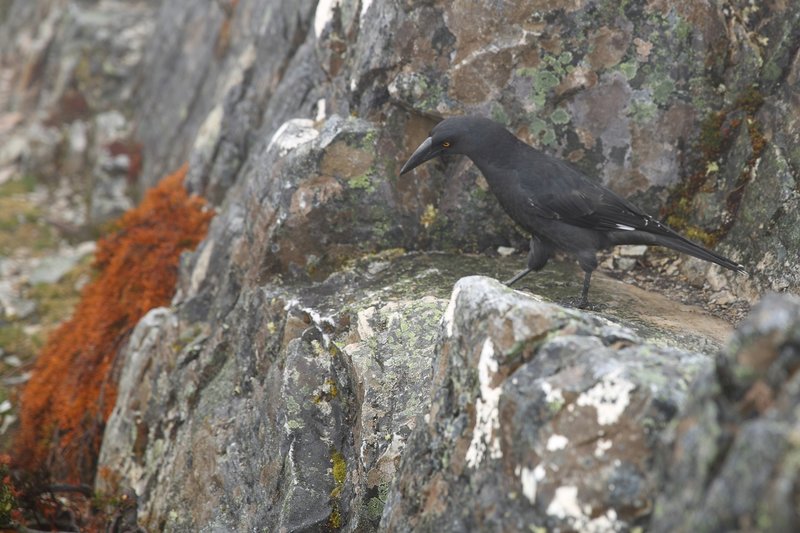
[(48, 339), (22, 392), (15, 447), (22, 466), (91, 483), (116, 399), (119, 348), (147, 311), (169, 304), (180, 253), (203, 239), (213, 217), (188, 196), (186, 170), (163, 179), (98, 242), (95, 279)]

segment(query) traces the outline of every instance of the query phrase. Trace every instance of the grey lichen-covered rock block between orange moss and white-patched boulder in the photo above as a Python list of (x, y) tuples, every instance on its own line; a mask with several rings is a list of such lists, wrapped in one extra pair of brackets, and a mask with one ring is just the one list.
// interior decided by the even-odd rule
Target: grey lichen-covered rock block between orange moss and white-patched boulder
[[(214, 333), (151, 312), (127, 350), (98, 486), (133, 487), (154, 530), (375, 530), (446, 305), (424, 296), (424, 266), (402, 288), (362, 273), (296, 298), (245, 291)], [(387, 287), (406, 296), (376, 296)]]

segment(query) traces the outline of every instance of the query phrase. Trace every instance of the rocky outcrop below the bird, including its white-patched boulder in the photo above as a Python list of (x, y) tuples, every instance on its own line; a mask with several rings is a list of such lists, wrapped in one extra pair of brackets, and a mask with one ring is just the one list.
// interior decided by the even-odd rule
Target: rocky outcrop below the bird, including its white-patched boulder
[[(448, 305), (465, 271), (497, 267), (456, 260), (374, 257), (245, 290), (217, 330), (189, 307), (152, 311), (126, 351), (99, 488), (132, 487), (143, 525), (181, 531), (402, 530), (468, 509), (459, 524), (500, 529), (507, 513), (647, 517), (659, 431), (710, 360), (485, 277), (456, 283)], [(481, 493), (509, 507), (475, 505)]]

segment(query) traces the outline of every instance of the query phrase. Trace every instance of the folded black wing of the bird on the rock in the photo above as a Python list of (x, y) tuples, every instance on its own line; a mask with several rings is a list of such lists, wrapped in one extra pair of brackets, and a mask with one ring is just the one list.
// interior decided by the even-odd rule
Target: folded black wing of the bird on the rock
[(551, 157), (520, 175), (520, 188), (537, 216), (599, 231), (673, 235), (673, 231), (569, 164)]

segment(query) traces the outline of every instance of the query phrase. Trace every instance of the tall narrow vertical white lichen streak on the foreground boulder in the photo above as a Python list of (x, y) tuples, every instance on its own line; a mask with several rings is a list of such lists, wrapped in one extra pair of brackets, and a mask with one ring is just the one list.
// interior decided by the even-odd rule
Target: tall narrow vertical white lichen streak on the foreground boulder
[(472, 431), (472, 442), (467, 450), (467, 465), (475, 468), (488, 453), (492, 459), (503, 456), (500, 449), (500, 394), (502, 387), (493, 387), (492, 380), (497, 373), (497, 360), (494, 358), (494, 344), (487, 338), (481, 349), (478, 361), (478, 380), (481, 397), (475, 403), (475, 429)]

